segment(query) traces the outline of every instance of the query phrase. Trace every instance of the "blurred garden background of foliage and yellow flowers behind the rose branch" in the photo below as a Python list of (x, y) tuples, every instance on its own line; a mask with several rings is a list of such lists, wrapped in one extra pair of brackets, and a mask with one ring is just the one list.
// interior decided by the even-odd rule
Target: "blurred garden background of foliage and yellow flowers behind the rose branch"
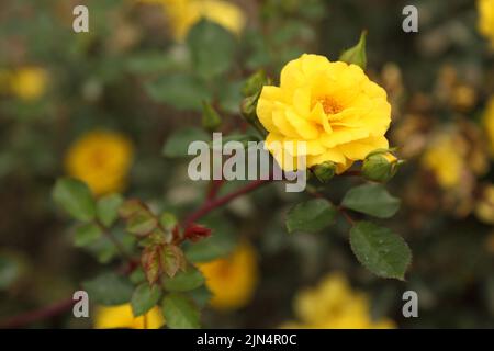
[[(72, 31), (77, 4), (89, 9), (89, 33)], [(402, 30), (407, 4), (418, 9), (418, 33)], [(215, 66), (194, 66), (190, 57), (189, 31), (201, 18), (226, 33), (206, 54)], [(336, 60), (363, 30), (367, 72), (393, 106), (389, 139), (406, 159), (388, 185), (403, 204), (386, 225), (414, 253), (407, 280), (363, 270), (344, 222), (287, 234), (287, 210), (306, 195), (273, 184), (206, 218), (216, 238), (207, 245), (233, 258), (205, 263), (210, 288), (237, 293), (218, 293), (203, 325), (494, 327), (489, 0), (1, 1), (0, 321), (71, 296), (102, 263), (117, 267), (111, 242), (74, 245), (70, 223), (50, 197), (56, 178), (79, 178), (96, 195), (117, 191), (182, 216), (207, 184), (190, 181), (188, 160), (164, 156), (162, 146), (177, 131), (203, 136), (201, 101), (212, 102), (225, 131), (242, 128), (250, 73), (262, 68), (278, 81), (284, 64), (303, 53)], [(223, 56), (214, 57), (216, 49)], [(340, 200), (358, 182), (335, 179), (327, 193)], [(418, 318), (402, 315), (407, 290), (418, 293)], [(314, 317), (321, 308), (330, 309), (327, 324)], [(93, 325), (64, 313), (25, 327)]]

